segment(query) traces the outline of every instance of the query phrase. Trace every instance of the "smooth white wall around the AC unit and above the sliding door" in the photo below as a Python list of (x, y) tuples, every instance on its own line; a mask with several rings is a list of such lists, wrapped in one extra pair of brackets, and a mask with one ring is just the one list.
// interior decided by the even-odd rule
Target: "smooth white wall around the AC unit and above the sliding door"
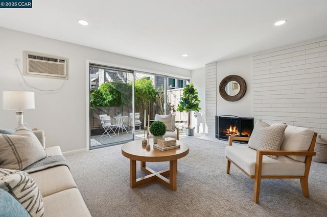
[[(35, 110), (26, 110), (24, 122), (32, 128), (45, 131), (46, 146), (60, 145), (62, 151), (87, 147), (87, 82), (86, 63), (94, 60), (102, 63), (126, 66), (137, 70), (159, 72), (178, 77), (191, 77), (191, 71), (116, 53), (92, 49), (76, 44), (43, 38), (35, 35), (0, 28), (0, 92), (28, 90), (35, 92)], [(24, 50), (66, 57), (69, 59), (68, 80), (59, 92), (41, 92), (22, 83), (14, 58), (20, 59)], [(92, 62), (92, 61), (91, 61)], [(40, 89), (56, 89), (63, 80), (25, 76), (27, 82)], [(2, 101), (2, 94), (0, 95)], [(15, 128), (14, 111), (0, 109), (0, 127)]]

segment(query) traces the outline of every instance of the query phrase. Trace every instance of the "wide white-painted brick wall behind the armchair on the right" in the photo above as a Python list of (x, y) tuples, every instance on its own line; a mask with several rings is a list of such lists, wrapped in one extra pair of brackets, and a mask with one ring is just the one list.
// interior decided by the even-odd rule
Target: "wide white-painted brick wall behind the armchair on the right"
[(255, 121), (327, 135), (327, 36), (252, 55)]

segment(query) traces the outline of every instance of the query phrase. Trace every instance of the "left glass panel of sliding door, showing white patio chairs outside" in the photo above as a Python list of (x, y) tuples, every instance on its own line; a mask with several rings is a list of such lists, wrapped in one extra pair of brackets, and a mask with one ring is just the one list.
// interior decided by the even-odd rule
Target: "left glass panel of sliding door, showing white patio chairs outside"
[(90, 149), (134, 139), (133, 71), (89, 66)]

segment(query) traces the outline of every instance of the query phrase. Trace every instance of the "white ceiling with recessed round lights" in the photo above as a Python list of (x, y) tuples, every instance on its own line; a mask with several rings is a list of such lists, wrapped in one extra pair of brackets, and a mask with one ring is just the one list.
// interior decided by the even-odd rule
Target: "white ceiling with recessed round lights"
[[(327, 0), (32, 3), (32, 9), (0, 8), (0, 26), (190, 70), (327, 35)], [(274, 26), (281, 19), (288, 22)]]

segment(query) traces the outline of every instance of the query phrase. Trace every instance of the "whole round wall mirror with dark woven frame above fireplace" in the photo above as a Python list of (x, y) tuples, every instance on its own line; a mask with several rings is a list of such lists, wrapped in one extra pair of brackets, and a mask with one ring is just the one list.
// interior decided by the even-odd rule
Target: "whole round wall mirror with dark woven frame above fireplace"
[(219, 85), (220, 96), (227, 101), (237, 101), (244, 96), (245, 92), (245, 80), (238, 75), (224, 77)]

